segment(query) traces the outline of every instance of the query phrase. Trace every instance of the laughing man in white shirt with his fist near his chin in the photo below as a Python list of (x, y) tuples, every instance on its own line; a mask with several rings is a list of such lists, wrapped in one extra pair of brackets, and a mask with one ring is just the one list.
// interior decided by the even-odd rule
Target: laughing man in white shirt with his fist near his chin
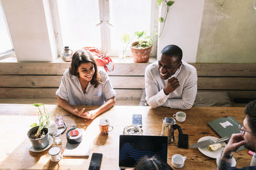
[(195, 101), (196, 91), (196, 69), (182, 60), (179, 46), (165, 46), (160, 60), (145, 69), (146, 101), (152, 108), (166, 106), (190, 109)]

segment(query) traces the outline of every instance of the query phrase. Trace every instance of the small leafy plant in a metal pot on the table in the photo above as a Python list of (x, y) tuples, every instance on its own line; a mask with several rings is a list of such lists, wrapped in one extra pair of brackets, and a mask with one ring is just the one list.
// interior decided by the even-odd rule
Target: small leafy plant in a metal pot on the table
[[(49, 144), (49, 129), (47, 128), (49, 125), (49, 114), (45, 112), (44, 104), (34, 103), (33, 106), (38, 108), (39, 124), (32, 124), (32, 128), (28, 131), (27, 135), (33, 145), (33, 148), (41, 150)], [(44, 112), (40, 110), (40, 107), (44, 108)]]

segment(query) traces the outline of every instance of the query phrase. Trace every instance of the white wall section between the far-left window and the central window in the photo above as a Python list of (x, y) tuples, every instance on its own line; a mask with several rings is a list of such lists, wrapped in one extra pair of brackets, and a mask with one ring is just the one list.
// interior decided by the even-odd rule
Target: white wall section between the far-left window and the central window
[[(48, 0), (47, 0), (48, 1)], [(52, 61), (57, 58), (51, 48), (43, 0), (1, 0), (18, 61)], [(48, 17), (49, 18), (49, 17)], [(56, 51), (56, 48), (55, 48)]]

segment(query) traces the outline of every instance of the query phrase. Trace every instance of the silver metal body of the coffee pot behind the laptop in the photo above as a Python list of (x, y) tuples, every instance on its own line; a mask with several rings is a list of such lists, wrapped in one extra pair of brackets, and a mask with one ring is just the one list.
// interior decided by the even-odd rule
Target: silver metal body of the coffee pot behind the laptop
[(172, 117), (163, 118), (163, 126), (161, 136), (168, 137), (168, 143), (172, 143), (174, 141), (174, 129), (173, 125), (176, 125), (175, 119)]

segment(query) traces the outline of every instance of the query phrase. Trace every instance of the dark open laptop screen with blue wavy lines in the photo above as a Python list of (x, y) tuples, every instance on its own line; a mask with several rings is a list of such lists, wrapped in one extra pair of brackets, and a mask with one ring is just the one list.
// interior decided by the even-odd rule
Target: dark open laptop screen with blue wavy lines
[(167, 140), (166, 136), (120, 135), (119, 166), (134, 167), (145, 155), (167, 162)]

